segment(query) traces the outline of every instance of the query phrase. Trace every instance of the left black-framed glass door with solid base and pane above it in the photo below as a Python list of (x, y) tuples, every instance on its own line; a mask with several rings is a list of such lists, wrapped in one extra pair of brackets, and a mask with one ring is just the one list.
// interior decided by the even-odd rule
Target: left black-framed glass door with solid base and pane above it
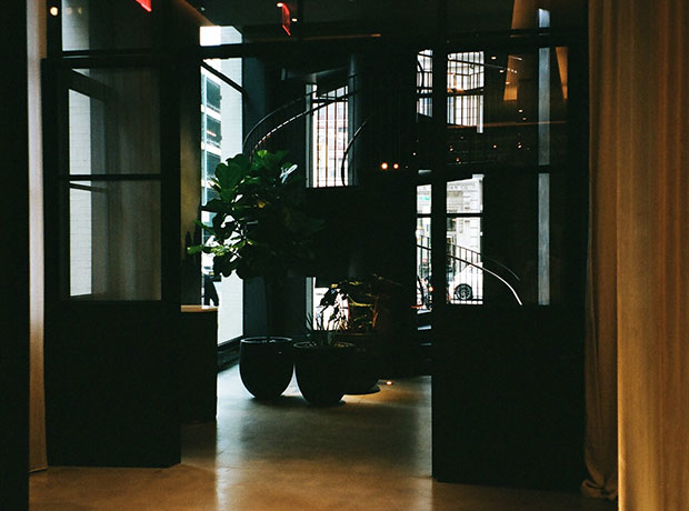
[(46, 2), (50, 464), (180, 460), (180, 98), (188, 77), (159, 51), (171, 4), (154, 6)]

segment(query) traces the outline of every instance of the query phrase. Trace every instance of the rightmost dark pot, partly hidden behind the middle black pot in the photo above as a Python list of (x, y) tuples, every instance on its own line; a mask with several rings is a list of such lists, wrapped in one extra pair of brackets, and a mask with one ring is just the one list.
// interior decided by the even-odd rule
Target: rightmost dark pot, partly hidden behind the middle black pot
[(378, 390), (381, 374), (380, 347), (375, 333), (338, 332), (336, 340), (355, 345), (346, 394), (367, 394)]

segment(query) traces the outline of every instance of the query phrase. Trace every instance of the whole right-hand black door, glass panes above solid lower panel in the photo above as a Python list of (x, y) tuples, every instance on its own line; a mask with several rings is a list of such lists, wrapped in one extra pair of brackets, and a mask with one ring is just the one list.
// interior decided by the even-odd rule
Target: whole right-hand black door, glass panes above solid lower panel
[[(547, 12), (539, 19), (547, 28)], [(417, 271), (430, 272), (433, 289), (425, 308), (433, 310), (433, 474), (442, 481), (580, 481), (580, 42), (512, 33), (420, 57), (419, 72), (443, 84), (419, 101), (435, 142), (419, 151), (417, 210)]]

